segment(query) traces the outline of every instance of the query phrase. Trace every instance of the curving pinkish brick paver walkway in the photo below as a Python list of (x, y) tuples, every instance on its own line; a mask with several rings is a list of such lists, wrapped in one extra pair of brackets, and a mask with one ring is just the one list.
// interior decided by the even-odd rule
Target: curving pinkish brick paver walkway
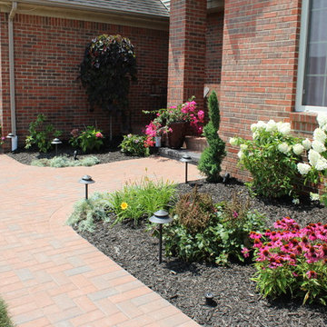
[[(198, 326), (64, 225), (84, 196), (130, 179), (183, 182), (183, 163), (146, 158), (94, 167), (39, 168), (0, 155), (0, 295), (19, 327)], [(199, 177), (190, 166), (189, 178)]]

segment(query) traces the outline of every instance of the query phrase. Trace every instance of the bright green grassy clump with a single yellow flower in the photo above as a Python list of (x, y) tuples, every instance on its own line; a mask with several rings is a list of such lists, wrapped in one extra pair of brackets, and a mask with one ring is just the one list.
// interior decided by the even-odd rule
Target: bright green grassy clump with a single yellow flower
[(116, 220), (134, 220), (134, 223), (145, 216), (166, 208), (175, 194), (175, 184), (169, 181), (152, 181), (147, 176), (140, 182), (126, 183), (123, 190), (111, 193), (110, 202)]

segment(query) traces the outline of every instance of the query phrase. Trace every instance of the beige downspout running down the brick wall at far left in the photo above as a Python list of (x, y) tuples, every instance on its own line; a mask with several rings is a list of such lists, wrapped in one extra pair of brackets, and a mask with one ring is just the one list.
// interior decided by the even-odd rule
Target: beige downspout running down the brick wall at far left
[[(14, 17), (17, 10), (17, 3), (13, 2), (8, 20), (8, 44), (9, 44), (9, 82), (10, 82), (10, 114), (11, 114), (11, 133), (16, 136), (16, 117), (15, 117), (15, 59), (14, 59)], [(12, 140), (14, 142), (14, 140)], [(15, 140), (16, 141), (16, 140)]]

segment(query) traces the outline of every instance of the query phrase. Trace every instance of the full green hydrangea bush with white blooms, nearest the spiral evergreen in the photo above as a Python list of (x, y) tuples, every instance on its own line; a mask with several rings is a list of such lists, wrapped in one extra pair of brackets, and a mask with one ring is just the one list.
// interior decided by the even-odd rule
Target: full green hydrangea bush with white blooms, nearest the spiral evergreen
[(278, 198), (296, 196), (297, 185), (303, 183), (297, 170), (302, 160), (302, 140), (290, 135), (289, 123), (252, 124), (252, 140), (233, 137), (232, 145), (240, 145), (239, 165), (248, 170), (253, 182), (247, 183), (253, 193)]

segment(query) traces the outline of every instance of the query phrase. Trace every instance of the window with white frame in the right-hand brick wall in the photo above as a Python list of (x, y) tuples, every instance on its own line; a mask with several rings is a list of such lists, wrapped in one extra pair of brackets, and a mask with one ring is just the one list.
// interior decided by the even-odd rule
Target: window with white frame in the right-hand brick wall
[(327, 111), (327, 1), (304, 0), (297, 111)]

